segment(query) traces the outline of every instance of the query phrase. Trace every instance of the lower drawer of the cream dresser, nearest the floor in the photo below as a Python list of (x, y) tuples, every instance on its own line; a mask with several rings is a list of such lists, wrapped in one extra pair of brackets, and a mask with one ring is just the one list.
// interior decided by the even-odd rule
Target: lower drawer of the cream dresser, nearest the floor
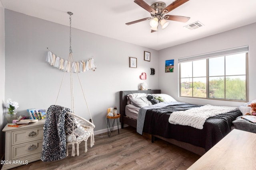
[(24, 143), (16, 146), (12, 146), (12, 160), (17, 160), (23, 156), (29, 156), (31, 154), (41, 154), (43, 141), (38, 140), (30, 143)]

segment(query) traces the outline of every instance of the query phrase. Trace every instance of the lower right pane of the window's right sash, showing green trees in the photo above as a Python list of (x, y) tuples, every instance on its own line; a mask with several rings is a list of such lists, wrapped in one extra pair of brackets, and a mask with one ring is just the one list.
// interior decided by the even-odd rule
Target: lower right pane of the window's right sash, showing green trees
[(246, 100), (246, 76), (226, 77), (226, 99)]

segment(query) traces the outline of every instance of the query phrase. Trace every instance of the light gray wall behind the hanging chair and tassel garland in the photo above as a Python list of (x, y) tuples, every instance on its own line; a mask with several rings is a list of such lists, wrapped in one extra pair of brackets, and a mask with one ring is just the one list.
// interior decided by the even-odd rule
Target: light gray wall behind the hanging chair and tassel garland
[[(19, 103), (20, 115), (26, 115), (28, 108), (47, 109), (55, 104), (63, 72), (45, 62), (46, 48), (67, 59), (69, 27), (10, 10), (5, 10), (5, 26), (5, 98)], [(138, 90), (142, 82), (158, 89), (158, 51), (78, 29), (72, 29), (72, 49), (75, 60), (94, 56), (96, 61), (96, 71), (79, 74), (95, 131), (106, 129), (107, 108), (119, 107), (120, 90)], [(144, 61), (144, 51), (151, 53), (150, 62)], [(129, 57), (137, 58), (137, 68), (129, 68)], [(150, 68), (156, 69), (154, 76)], [(147, 80), (140, 80), (142, 72), (146, 72)], [(89, 119), (76, 74), (74, 87), (76, 114)], [(70, 107), (69, 74), (60, 94), (58, 104)]]

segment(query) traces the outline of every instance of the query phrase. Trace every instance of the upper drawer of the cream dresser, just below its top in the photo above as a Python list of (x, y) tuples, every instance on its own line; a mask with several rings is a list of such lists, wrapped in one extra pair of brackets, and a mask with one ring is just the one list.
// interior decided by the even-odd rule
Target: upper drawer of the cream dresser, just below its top
[(12, 132), (12, 145), (43, 139), (43, 127)]

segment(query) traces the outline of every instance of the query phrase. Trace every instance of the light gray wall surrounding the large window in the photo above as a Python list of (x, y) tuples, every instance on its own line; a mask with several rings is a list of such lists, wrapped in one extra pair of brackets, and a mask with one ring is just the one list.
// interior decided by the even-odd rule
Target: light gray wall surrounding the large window
[[(200, 28), (201, 29), (201, 28)], [(193, 31), (200, 31), (196, 29)], [(203, 28), (202, 28), (203, 29)], [(241, 102), (223, 102), (216, 100), (202, 100), (202, 99), (191, 99), (191, 98), (180, 98), (178, 97), (178, 58), (188, 57), (193, 55), (199, 55), (203, 53), (209, 53), (213, 51), (219, 51), (224, 49), (230, 49), (234, 47), (241, 47), (249, 45), (249, 88), (248, 95), (249, 100), (256, 99), (255, 90), (255, 63), (256, 63), (256, 23), (246, 25), (163, 49), (159, 52), (159, 87), (162, 92), (172, 95), (176, 100), (181, 102), (188, 102), (192, 104), (213, 104), (213, 105), (226, 105), (226, 106), (240, 106)], [(174, 72), (165, 73), (164, 64), (166, 60), (174, 59)]]

